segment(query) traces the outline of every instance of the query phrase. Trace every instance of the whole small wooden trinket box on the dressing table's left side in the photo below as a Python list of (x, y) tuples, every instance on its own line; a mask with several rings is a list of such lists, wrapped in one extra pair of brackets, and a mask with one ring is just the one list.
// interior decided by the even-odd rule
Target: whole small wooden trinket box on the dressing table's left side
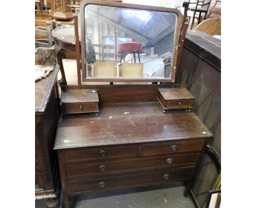
[(99, 112), (96, 89), (62, 90), (60, 102), (64, 114)]

